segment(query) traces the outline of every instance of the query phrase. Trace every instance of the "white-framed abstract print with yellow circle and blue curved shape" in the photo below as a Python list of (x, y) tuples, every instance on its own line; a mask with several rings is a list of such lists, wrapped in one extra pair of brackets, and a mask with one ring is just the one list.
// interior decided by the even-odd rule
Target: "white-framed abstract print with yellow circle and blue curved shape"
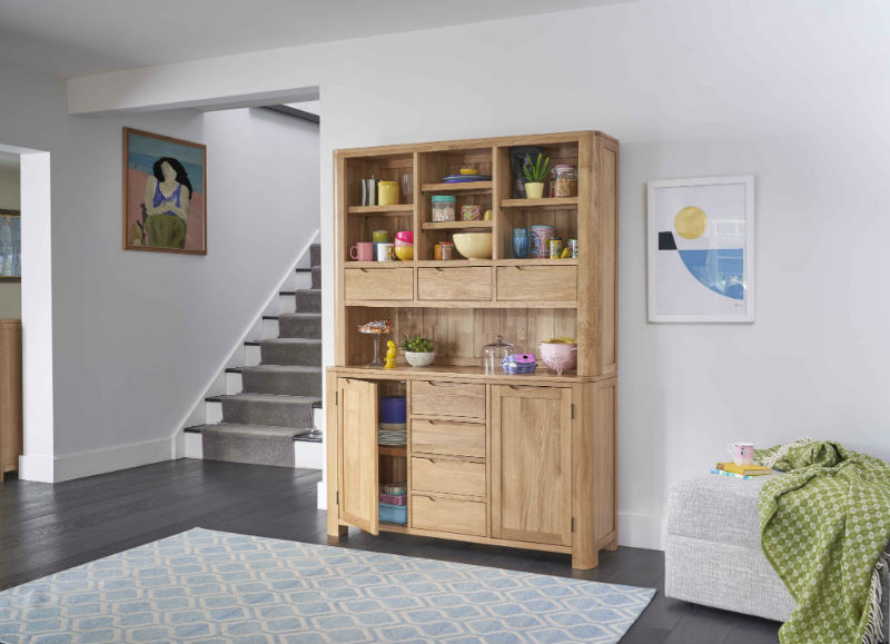
[(651, 323), (754, 321), (754, 177), (647, 182)]

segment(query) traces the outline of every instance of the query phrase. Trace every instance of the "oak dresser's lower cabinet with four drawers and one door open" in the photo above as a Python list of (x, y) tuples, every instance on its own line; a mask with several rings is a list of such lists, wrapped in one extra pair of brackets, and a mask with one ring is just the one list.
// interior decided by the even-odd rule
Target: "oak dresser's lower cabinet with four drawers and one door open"
[[(400, 532), (565, 553), (576, 568), (616, 546), (614, 378), (422, 374), (329, 370), (332, 538)], [(377, 443), (379, 399), (393, 395), (406, 398), (405, 446)], [(406, 522), (386, 523), (379, 495), (398, 483)]]

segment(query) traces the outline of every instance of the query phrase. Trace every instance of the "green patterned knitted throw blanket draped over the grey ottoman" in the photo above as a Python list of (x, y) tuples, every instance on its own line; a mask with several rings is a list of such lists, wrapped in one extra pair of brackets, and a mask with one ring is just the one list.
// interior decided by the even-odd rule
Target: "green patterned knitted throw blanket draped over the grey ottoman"
[(763, 553), (798, 603), (780, 641), (878, 644), (890, 465), (808, 438), (754, 457), (785, 473), (763, 486), (758, 502)]

